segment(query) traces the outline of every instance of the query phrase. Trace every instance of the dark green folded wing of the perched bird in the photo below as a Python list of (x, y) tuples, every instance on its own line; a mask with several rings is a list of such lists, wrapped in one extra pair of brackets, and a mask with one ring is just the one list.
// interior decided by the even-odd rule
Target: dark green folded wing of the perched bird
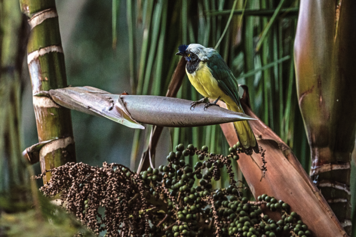
[(228, 95), (237, 105), (240, 105), (238, 87), (235, 77), (220, 54), (214, 52), (206, 61), (211, 74), (218, 81), (219, 88)]

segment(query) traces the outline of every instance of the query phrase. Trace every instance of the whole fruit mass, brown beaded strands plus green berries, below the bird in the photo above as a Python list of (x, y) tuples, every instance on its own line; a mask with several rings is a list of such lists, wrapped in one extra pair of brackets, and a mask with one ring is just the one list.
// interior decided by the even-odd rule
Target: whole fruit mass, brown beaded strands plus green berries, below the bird
[[(216, 155), (207, 146), (179, 144), (167, 156), (167, 165), (140, 174), (115, 163), (103, 167), (67, 163), (51, 169), (51, 181), (41, 190), (49, 196), (60, 193), (67, 210), (96, 234), (106, 231), (108, 237), (311, 236), (287, 203), (266, 194), (257, 201), (242, 196), (231, 166), (242, 152), (239, 143), (229, 152)], [(261, 170), (266, 171), (265, 151), (260, 153)], [(193, 167), (185, 161), (188, 156), (198, 156)], [(211, 182), (222, 172), (227, 172), (230, 183), (214, 189)], [(282, 219), (270, 219), (261, 207), (280, 212)]]

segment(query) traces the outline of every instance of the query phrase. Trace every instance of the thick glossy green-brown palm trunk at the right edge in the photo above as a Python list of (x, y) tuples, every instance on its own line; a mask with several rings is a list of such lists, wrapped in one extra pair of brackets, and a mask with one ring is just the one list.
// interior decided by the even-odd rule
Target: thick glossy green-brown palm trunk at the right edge
[(350, 160), (356, 134), (355, 18), (355, 1), (302, 0), (294, 44), (299, 107), (312, 157), (310, 175), (349, 234)]

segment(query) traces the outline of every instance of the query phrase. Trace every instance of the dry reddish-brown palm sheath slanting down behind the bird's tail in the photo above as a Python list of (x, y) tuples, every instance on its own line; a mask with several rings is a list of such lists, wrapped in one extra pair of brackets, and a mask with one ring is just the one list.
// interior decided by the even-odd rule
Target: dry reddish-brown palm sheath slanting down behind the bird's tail
[[(247, 106), (246, 98), (248, 95), (244, 93), (241, 99), (242, 108), (247, 115), (257, 118)], [(219, 105), (226, 108), (223, 102), (219, 102)], [(262, 160), (259, 154), (247, 156), (241, 153), (237, 162), (255, 198), (266, 193), (288, 203), (290, 210), (300, 215), (301, 220), (316, 237), (347, 236), (292, 150), (261, 120), (250, 121), (250, 125), (258, 144), (266, 150), (265, 177), (261, 180)], [(238, 140), (234, 125), (225, 123), (220, 126), (229, 145), (236, 144)]]

